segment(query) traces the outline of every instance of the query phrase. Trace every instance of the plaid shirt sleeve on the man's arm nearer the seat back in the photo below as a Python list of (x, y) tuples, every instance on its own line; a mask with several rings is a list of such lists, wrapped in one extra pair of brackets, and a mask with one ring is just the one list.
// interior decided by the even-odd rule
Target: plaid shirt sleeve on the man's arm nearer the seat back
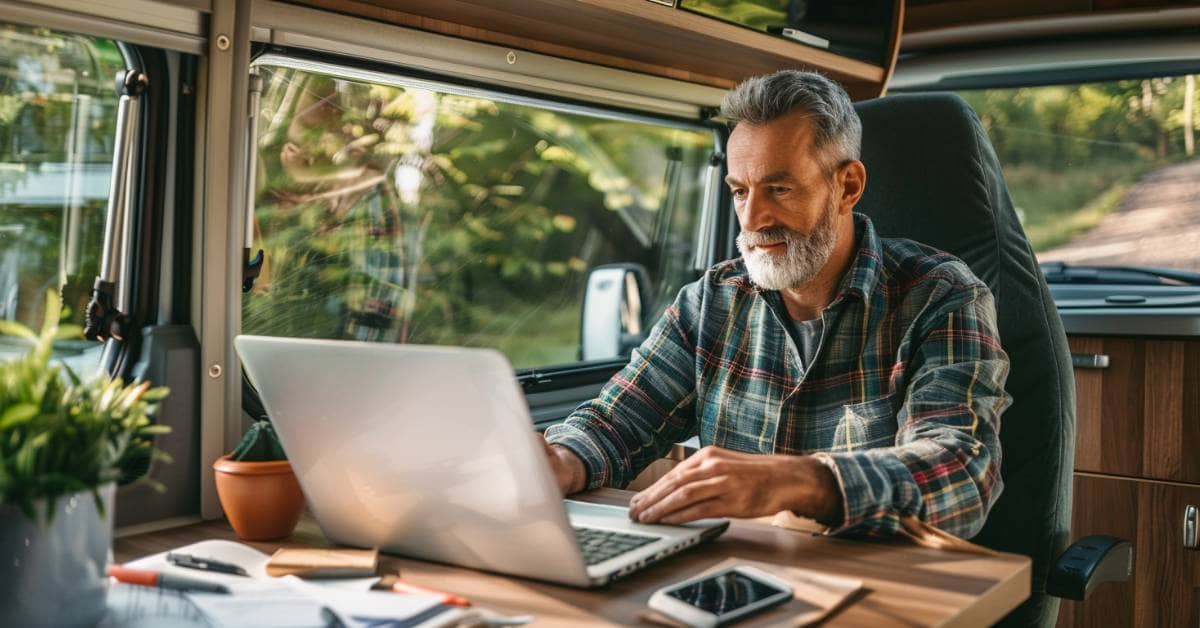
[(971, 538), (1000, 496), (1000, 417), (1012, 397), (995, 304), (982, 283), (935, 294), (907, 352), (895, 445), (815, 454), (841, 488), (842, 521), (830, 533), (890, 534), (916, 515)]

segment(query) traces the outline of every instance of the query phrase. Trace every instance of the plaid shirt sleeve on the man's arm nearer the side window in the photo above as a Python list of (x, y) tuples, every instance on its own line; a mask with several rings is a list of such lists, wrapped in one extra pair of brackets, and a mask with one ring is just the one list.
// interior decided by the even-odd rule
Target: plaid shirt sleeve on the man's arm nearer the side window
[(588, 489), (624, 488), (696, 432), (695, 321), (700, 283), (685, 286), (629, 364), (546, 439), (583, 461)]

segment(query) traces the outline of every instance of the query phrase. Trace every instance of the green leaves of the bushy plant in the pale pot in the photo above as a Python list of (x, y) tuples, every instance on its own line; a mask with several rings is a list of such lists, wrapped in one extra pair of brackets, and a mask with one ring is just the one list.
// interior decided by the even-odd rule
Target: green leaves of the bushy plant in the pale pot
[(0, 321), (0, 334), (30, 345), (22, 357), (0, 363), (0, 504), (14, 504), (36, 521), (35, 504), (44, 500), (47, 524), (59, 497), (91, 491), (103, 513), (100, 486), (128, 479), (130, 469), (154, 460), (170, 460), (152, 445), (154, 436), (170, 427), (150, 419), (167, 388), (126, 384), (107, 373), (82, 381), (53, 364), (54, 340), (79, 335), (77, 325), (60, 327), (61, 313), (50, 292), (40, 334)]

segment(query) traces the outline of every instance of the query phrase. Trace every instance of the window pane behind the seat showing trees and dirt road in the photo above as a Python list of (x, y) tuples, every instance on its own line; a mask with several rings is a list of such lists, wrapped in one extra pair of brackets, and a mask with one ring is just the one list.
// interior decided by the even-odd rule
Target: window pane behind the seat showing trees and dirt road
[(1040, 262), (1200, 270), (1194, 77), (962, 96)]

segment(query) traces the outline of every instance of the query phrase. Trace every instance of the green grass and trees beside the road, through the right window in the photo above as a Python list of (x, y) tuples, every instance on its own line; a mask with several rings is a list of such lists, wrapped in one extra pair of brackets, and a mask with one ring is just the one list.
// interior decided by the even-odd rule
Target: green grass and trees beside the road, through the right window
[(988, 130), (1034, 251), (1045, 251), (1099, 223), (1142, 174), (1188, 159), (1184, 86), (1162, 77), (961, 95)]

